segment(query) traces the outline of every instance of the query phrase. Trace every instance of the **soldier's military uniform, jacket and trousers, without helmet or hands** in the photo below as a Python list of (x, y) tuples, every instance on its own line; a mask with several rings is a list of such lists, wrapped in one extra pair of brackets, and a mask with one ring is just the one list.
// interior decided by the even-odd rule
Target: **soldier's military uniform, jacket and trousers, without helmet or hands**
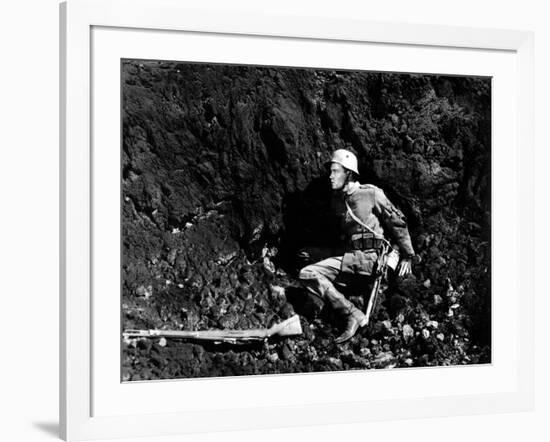
[(346, 203), (343, 231), (347, 251), (342, 256), (304, 267), (299, 278), (308, 290), (330, 302), (334, 309), (362, 324), (365, 323), (365, 315), (334, 288), (333, 281), (341, 272), (371, 275), (375, 271), (384, 234), (394, 241), (405, 258), (414, 256), (414, 249), (403, 213), (380, 188), (351, 182), (343, 193)]

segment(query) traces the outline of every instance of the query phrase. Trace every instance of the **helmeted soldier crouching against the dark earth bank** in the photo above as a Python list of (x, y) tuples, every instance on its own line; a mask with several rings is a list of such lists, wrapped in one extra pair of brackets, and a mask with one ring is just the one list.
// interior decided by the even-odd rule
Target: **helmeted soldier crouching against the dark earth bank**
[(330, 184), (339, 192), (346, 206), (343, 229), (348, 251), (300, 270), (299, 278), (312, 293), (329, 302), (333, 309), (347, 319), (347, 326), (335, 342), (351, 339), (367, 317), (345, 298), (333, 282), (341, 273), (372, 275), (384, 239), (384, 229), (399, 248), (401, 260), (399, 276), (411, 273), (414, 250), (403, 213), (386, 198), (384, 192), (370, 184), (357, 181), (357, 157), (350, 151), (339, 149), (332, 155)]

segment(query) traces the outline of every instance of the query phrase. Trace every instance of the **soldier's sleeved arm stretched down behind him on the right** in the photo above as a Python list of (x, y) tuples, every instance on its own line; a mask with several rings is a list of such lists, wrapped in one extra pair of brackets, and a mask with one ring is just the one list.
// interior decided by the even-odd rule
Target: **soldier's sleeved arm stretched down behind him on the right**
[(414, 249), (405, 215), (391, 203), (382, 189), (377, 188), (375, 191), (374, 210), (375, 215), (378, 216), (386, 230), (390, 232), (393, 239), (397, 242), (404, 257), (413, 257)]

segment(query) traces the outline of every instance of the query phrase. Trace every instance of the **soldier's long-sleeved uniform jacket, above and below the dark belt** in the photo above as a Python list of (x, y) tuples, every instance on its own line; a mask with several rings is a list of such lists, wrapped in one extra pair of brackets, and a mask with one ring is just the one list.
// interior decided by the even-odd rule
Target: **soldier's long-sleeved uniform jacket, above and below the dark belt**
[[(388, 200), (382, 189), (372, 184), (350, 183), (344, 190), (344, 199), (356, 217), (378, 235), (396, 243), (403, 256), (414, 255), (405, 216)], [(347, 209), (343, 224), (348, 238), (368, 232), (351, 217)], [(344, 255), (342, 270), (370, 275), (377, 258), (376, 251), (352, 250)]]

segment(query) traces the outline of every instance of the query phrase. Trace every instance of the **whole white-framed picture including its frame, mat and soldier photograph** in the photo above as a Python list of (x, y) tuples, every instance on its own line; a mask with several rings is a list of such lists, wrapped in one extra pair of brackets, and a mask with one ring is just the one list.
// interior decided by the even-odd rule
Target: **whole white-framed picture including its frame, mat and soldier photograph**
[(64, 439), (532, 407), (530, 33), (60, 14)]

